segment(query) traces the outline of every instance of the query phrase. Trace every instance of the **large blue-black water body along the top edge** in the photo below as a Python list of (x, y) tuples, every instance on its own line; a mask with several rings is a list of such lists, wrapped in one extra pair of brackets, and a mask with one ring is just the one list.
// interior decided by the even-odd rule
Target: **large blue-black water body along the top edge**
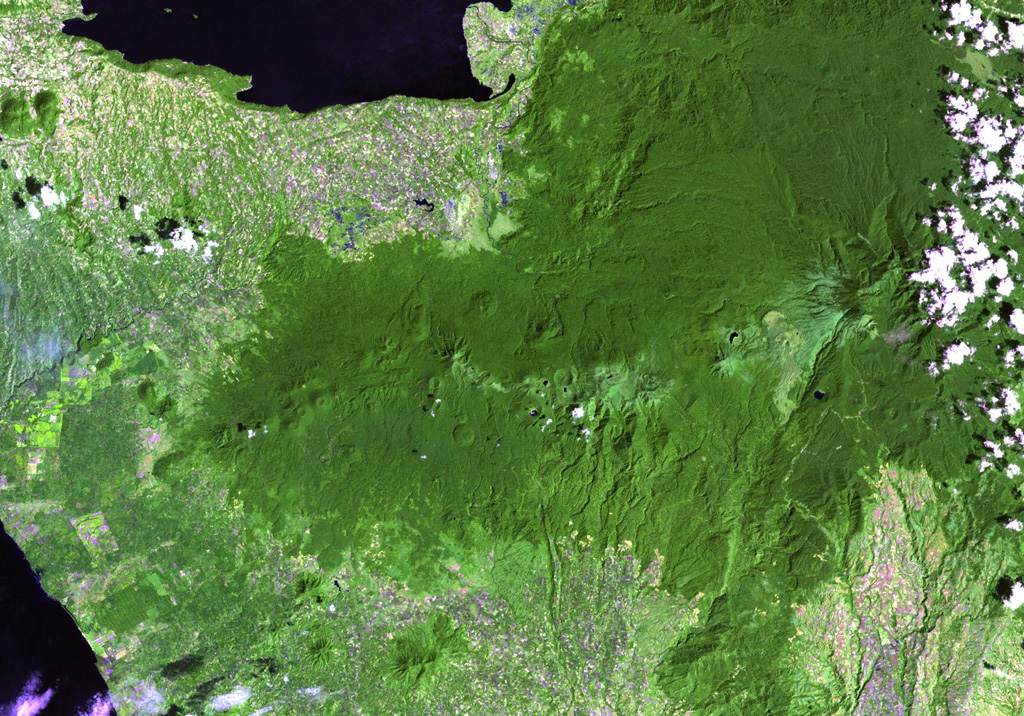
[[(251, 75), (246, 101), (311, 112), (401, 94), (483, 101), (462, 32), (469, 0), (84, 0), (65, 33), (131, 62), (175, 57)], [(510, 0), (495, 0), (499, 9)], [(170, 11), (168, 12), (167, 9)]]

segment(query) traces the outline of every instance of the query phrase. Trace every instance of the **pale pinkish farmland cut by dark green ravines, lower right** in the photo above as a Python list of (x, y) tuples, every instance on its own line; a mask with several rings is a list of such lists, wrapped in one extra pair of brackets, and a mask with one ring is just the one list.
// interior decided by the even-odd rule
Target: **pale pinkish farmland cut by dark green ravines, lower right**
[(949, 548), (925, 471), (886, 465), (868, 482), (873, 508), (846, 576), (795, 605), (800, 668), (834, 703), (856, 703), (855, 714), (903, 713), (907, 690), (921, 707), (962, 713), (991, 638), (980, 619), (985, 586), (1005, 560), (977, 575), (970, 560), (992, 554), (988, 543)]

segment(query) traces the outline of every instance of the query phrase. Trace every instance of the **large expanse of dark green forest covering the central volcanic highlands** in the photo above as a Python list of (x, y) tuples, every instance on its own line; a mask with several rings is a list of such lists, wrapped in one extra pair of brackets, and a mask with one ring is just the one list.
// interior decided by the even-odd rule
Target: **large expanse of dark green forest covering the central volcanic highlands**
[[(424, 589), (472, 521), (659, 547), (672, 590), (713, 595), (663, 683), (781, 713), (790, 603), (861, 528), (858, 470), (971, 478), (976, 426), (925, 370), (942, 336), (906, 286), (954, 146), (927, 4), (720, 5), (548, 30), (498, 253), (336, 264), (278, 237), (203, 430), (325, 564), (380, 520)], [(988, 490), (969, 525), (1007, 504)]]

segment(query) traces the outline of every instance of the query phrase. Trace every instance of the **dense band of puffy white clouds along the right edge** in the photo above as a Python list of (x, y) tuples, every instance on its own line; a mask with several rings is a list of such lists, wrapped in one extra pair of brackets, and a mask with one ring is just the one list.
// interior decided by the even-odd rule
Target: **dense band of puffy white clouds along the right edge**
[[(923, 267), (910, 280), (924, 285), (921, 298), (932, 321), (938, 326), (955, 327), (978, 301), (984, 301), (988, 309), (991, 304), (998, 306), (1019, 300), (1016, 294), (1024, 284), (1019, 255), (1004, 241), (1006, 231), (1021, 229), (1011, 208), (1016, 211), (1024, 203), (1024, 122), (1016, 116), (992, 113), (986, 103), (989, 99), (999, 99), (992, 94), (999, 92), (1016, 107), (1024, 108), (1024, 94), (1008, 79), (989, 73), (987, 59), (1024, 49), (1024, 24), (1010, 22), (1004, 32), (968, 0), (947, 3), (945, 9), (951, 22), (940, 33), (941, 37), (968, 51), (966, 62), (957, 67), (964, 74), (948, 75), (950, 94), (945, 121), (953, 136), (970, 150), (970, 157), (964, 175), (950, 185), (958, 197), (958, 206), (945, 207), (925, 220), (946, 241), (943, 246), (926, 252)], [(968, 64), (970, 73), (966, 69)], [(986, 81), (980, 81), (979, 77), (985, 77)], [(988, 313), (986, 329), (1024, 335), (1024, 307), (988, 310)], [(1000, 325), (1004, 319), (1006, 322)], [(932, 373), (937, 375), (970, 363), (975, 352), (975, 347), (957, 340), (946, 348), (939, 364), (930, 367)], [(1004, 355), (1007, 367), (1012, 367), (1019, 357), (1024, 357), (1024, 347), (1008, 347)], [(1018, 392), (1009, 386), (997, 387), (994, 394), (979, 398), (976, 404), (993, 422), (1021, 410)], [(1004, 457), (1004, 447), (1014, 447), (1014, 452), (1019, 453), (1024, 434), (1008, 435), (1002, 443), (986, 443), (990, 452), (981, 461), (982, 470)], [(1011, 465), (1007, 472), (1015, 476), (1020, 470), (1019, 466)], [(1024, 599), (1024, 593), (1021, 598)]]

